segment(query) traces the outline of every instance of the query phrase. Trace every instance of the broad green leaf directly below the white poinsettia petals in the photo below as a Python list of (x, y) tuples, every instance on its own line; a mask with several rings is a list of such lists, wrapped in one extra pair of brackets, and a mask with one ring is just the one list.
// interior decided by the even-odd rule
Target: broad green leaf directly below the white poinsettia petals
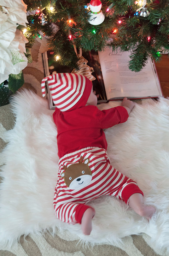
[(24, 77), (23, 77), (22, 70), (17, 75), (14, 75), (14, 74), (9, 75), (8, 87), (13, 93), (15, 93), (19, 88), (21, 88), (23, 84), (24, 84)]

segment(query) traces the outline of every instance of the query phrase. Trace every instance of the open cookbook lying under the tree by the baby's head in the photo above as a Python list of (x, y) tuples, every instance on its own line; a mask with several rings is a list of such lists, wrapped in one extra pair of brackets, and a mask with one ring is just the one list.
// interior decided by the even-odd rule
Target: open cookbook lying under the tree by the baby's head
[[(98, 103), (109, 100), (122, 100), (124, 97), (136, 98), (156, 98), (163, 96), (161, 85), (158, 79), (155, 64), (148, 60), (147, 65), (140, 72), (131, 71), (128, 68), (130, 52), (112, 52), (106, 47), (101, 52), (88, 52), (84, 58), (88, 60), (87, 65), (94, 69), (92, 81), (93, 89), (99, 94)], [(71, 73), (66, 66), (59, 66), (56, 62), (54, 52), (47, 51), (42, 54), (45, 76), (57, 73)], [(47, 98), (49, 108), (54, 109), (52, 96), (47, 84)]]

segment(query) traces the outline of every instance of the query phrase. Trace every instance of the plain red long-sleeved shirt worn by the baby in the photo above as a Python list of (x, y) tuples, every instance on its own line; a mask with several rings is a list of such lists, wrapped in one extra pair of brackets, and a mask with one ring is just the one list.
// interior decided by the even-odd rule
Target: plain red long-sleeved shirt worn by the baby
[(103, 129), (124, 123), (128, 112), (122, 106), (100, 111), (96, 106), (84, 106), (72, 111), (61, 112), (56, 108), (53, 119), (57, 126), (58, 155), (87, 147), (107, 150)]

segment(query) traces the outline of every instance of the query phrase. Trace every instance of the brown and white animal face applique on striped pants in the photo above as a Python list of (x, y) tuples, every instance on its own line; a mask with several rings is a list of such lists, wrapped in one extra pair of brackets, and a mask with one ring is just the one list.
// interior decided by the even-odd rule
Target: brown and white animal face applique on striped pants
[(64, 181), (70, 189), (81, 189), (92, 180), (92, 172), (88, 164), (89, 159), (83, 160), (81, 156), (77, 164), (72, 164), (69, 167), (63, 166), (65, 171), (62, 172), (61, 177), (64, 177)]

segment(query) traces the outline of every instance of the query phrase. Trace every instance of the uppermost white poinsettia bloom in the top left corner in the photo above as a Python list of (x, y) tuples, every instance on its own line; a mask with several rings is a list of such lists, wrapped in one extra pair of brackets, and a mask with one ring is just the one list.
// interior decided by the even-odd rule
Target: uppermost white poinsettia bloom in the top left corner
[(28, 23), (27, 5), (23, 0), (0, 0), (0, 5), (11, 21), (26, 26), (26, 23)]

